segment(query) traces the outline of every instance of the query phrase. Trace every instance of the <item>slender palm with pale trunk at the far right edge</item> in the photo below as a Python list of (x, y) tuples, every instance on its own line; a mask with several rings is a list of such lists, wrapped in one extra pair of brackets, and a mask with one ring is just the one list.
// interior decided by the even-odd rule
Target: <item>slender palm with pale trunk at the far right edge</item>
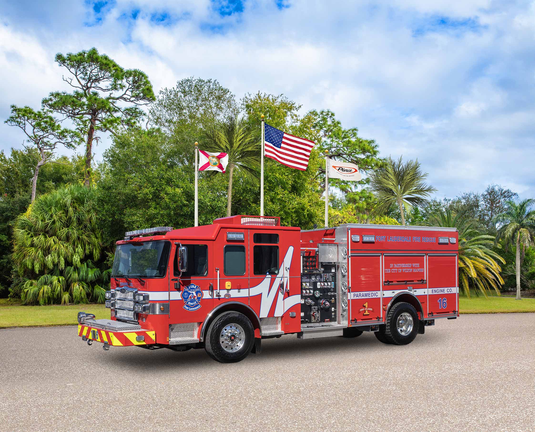
[(502, 238), (516, 246), (516, 299), (520, 298), (520, 248), (533, 245), (535, 238), (535, 210), (531, 206), (534, 199), (507, 201), (507, 210), (494, 218), (499, 224), (496, 240)]

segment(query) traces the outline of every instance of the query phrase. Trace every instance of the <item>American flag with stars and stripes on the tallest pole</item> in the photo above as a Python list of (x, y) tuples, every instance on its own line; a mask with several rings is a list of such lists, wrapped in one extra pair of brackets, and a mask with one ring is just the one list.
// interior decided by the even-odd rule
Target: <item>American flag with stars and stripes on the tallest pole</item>
[(301, 171), (308, 166), (310, 152), (315, 142), (279, 131), (264, 124), (264, 154), (266, 157)]

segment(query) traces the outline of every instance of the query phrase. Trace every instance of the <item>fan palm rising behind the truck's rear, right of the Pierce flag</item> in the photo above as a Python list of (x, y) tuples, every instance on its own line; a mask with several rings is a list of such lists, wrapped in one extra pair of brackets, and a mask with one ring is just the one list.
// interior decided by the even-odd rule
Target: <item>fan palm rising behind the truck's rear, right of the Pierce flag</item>
[(401, 224), (405, 225), (403, 207), (409, 211), (413, 205), (422, 206), (427, 203), (427, 197), (437, 190), (424, 183), (426, 172), (420, 169), (420, 163), (400, 158), (395, 161), (388, 157), (381, 168), (373, 171), (370, 176), (370, 186), (376, 195), (375, 209), (378, 213), (386, 213), (394, 202), (398, 203), (401, 212)]

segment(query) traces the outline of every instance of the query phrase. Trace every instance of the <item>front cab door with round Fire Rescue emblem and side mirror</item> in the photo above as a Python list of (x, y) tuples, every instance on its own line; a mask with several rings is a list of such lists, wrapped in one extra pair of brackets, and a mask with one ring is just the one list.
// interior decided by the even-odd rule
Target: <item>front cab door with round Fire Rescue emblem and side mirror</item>
[[(178, 248), (187, 249), (187, 270), (180, 272)], [(213, 241), (175, 242), (171, 249), (171, 322), (203, 322), (213, 309)], [(176, 283), (176, 284), (175, 284)], [(178, 289), (177, 289), (178, 288)]]

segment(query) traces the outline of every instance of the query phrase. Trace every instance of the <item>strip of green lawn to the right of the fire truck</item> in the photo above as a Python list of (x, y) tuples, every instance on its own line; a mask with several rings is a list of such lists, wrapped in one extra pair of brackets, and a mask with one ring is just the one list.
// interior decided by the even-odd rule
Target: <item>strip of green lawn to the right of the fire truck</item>
[(535, 312), (535, 299), (525, 298), (515, 300), (514, 297), (498, 297), (496, 295), (488, 298), (471, 293), (471, 297), (459, 296), (459, 312), (461, 314), (500, 314), (512, 312)]

